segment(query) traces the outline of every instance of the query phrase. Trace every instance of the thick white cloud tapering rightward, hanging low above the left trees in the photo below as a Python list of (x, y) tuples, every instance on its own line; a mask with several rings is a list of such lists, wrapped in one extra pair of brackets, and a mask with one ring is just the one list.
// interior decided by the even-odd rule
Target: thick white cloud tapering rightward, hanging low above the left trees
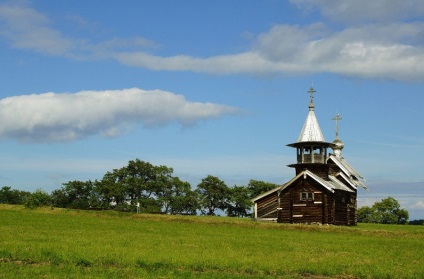
[(90, 135), (117, 136), (136, 123), (192, 125), (235, 113), (234, 107), (189, 102), (171, 92), (139, 88), (44, 93), (0, 100), (0, 138), (24, 142), (67, 141)]

